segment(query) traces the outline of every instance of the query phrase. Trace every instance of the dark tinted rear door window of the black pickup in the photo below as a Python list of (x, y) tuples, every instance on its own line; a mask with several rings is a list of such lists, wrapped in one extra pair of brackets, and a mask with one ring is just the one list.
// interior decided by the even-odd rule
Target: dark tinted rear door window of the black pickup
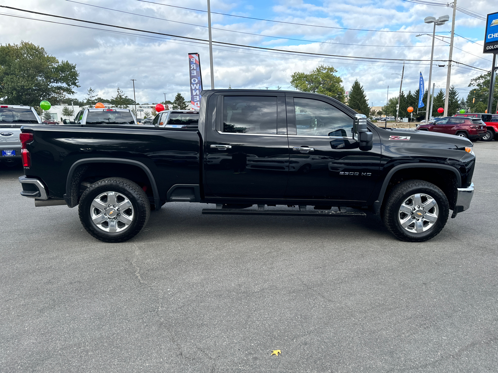
[(224, 96), (223, 132), (277, 133), (277, 97)]

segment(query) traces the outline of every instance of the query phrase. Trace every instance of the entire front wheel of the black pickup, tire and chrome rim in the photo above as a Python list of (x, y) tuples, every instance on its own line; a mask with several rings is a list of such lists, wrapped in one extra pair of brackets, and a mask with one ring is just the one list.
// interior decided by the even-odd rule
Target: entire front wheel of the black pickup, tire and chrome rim
[(422, 242), (441, 232), (449, 211), (448, 198), (439, 187), (422, 180), (408, 180), (391, 189), (383, 221), (396, 238)]

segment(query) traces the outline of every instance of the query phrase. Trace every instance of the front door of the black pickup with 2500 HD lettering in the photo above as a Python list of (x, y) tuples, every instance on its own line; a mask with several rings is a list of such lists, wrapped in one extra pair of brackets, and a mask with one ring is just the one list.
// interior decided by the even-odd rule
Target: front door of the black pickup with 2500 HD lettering
[(380, 141), (361, 151), (350, 115), (325, 100), (292, 94), (287, 98), (289, 199), (366, 201), (380, 165)]

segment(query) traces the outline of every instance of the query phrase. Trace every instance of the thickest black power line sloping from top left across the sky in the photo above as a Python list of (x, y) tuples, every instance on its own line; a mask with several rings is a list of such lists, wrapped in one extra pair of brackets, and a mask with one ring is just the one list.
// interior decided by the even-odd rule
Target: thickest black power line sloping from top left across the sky
[[(19, 11), (24, 11), (28, 13), (34, 13), (34, 14), (40, 14), (40, 15), (46, 15), (50, 17), (56, 17), (56, 18), (63, 18), (63, 19), (69, 19), (73, 21), (78, 21), (78, 22), (85, 22), (85, 23), (91, 23), (91, 24), (97, 24), (101, 26), (108, 26), (108, 27), (115, 27), (115, 28), (121, 28), (125, 30), (131, 30), (131, 31), (139, 31), (139, 32), (145, 32), (145, 33), (150, 33), (150, 34), (156, 34), (156, 35), (164, 35), (164, 36), (171, 36), (171, 37), (176, 37), (176, 38), (181, 38), (181, 39), (188, 39), (188, 40), (199, 40), (199, 41), (204, 41), (207, 42), (208, 40), (205, 39), (199, 39), (199, 38), (193, 38), (193, 37), (188, 37), (188, 36), (180, 36), (180, 35), (172, 35), (172, 34), (166, 34), (166, 33), (161, 33), (161, 32), (155, 32), (155, 31), (147, 31), (147, 30), (139, 30), (136, 28), (131, 28), (131, 27), (124, 27), (124, 26), (116, 26), (112, 24), (107, 24), (107, 23), (101, 23), (101, 22), (94, 22), (94, 21), (88, 21), (88, 20), (83, 20), (83, 19), (78, 19), (78, 18), (71, 18), (71, 17), (64, 17), (61, 15), (54, 15), (54, 14), (48, 14), (48, 13), (41, 13), (41, 12), (36, 12), (33, 10), (27, 10), (27, 9), (20, 9), (20, 8), (14, 8), (11, 6), (6, 6), (6, 5), (0, 5), (0, 7), (8, 8), (8, 9), (14, 9), (14, 10), (19, 10)], [(76, 26), (76, 25), (72, 25)], [(313, 53), (313, 52), (301, 52), (301, 51), (289, 51), (285, 49), (276, 49), (276, 48), (264, 48), (264, 47), (257, 47), (257, 46), (251, 46), (251, 45), (244, 45), (244, 44), (235, 44), (235, 43), (227, 43), (227, 42), (222, 42), (222, 41), (214, 41), (214, 43), (217, 44), (222, 44), (223, 46), (233, 46), (233, 47), (245, 47), (245, 48), (253, 48), (253, 49), (260, 49), (260, 50), (265, 50), (265, 51), (271, 51), (271, 52), (286, 52), (286, 53), (293, 53), (293, 54), (299, 54), (299, 55), (311, 55), (309, 57), (313, 56), (324, 56), (326, 58), (344, 58), (344, 59), (356, 59), (358, 60), (376, 60), (376, 61), (381, 61), (385, 63), (390, 63), (389, 61), (413, 61), (413, 62), (427, 62), (429, 60), (415, 60), (415, 59), (398, 59), (398, 58), (378, 58), (378, 57), (355, 57), (355, 56), (343, 56), (343, 55), (334, 55), (334, 54), (325, 54), (325, 53)], [(439, 62), (447, 62), (448, 60), (434, 60), (434, 61), (439, 61)], [(454, 61), (456, 62), (456, 61)], [(409, 63), (408, 63), (409, 64)], [(485, 72), (488, 72), (487, 70), (480, 69), (471, 65), (463, 64), (460, 63), (461, 65), (469, 66), (473, 69), (477, 70), (482, 70)]]

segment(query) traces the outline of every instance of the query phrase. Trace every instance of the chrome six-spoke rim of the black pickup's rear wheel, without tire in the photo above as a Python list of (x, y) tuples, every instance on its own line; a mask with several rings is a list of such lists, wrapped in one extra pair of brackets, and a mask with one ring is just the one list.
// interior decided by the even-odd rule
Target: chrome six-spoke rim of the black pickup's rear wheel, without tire
[(133, 205), (124, 194), (106, 191), (92, 201), (90, 217), (105, 232), (122, 232), (133, 222)]

